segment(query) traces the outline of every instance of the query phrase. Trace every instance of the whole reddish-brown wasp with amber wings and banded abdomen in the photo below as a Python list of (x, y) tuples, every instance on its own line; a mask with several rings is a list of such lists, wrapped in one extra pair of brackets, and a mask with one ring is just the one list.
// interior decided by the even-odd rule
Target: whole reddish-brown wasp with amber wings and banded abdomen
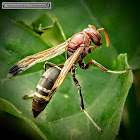
[[(44, 50), (42, 52), (39, 52), (37, 54), (25, 57), (24, 59), (17, 62), (9, 70), (8, 78), (12, 78), (16, 76), (17, 74), (32, 67), (36, 63), (49, 60), (57, 55), (62, 54), (66, 50), (67, 60), (65, 61), (64, 65), (57, 66), (55, 64), (46, 62), (45, 72), (37, 85), (36, 92), (33, 95), (24, 96), (24, 98), (26, 97), (34, 98), (33, 103), (32, 103), (32, 110), (33, 110), (34, 118), (36, 118), (39, 115), (39, 113), (46, 107), (51, 97), (56, 92), (57, 88), (64, 81), (67, 73), (71, 71), (73, 81), (79, 91), (80, 100), (81, 100), (81, 105), (80, 105), (81, 109), (84, 111), (86, 116), (90, 119), (90, 121), (94, 124), (94, 126), (100, 132), (103, 132), (103, 130), (93, 121), (93, 119), (88, 115), (88, 113), (85, 110), (83, 97), (81, 93), (81, 86), (75, 77), (76, 69), (77, 69), (76, 65), (79, 64), (80, 68), (85, 70), (85, 69), (88, 69), (94, 63), (103, 71), (115, 73), (115, 74), (125, 73), (128, 70), (131, 70), (132, 68), (128, 68), (123, 71), (111, 71), (111, 70), (106, 69), (104, 66), (102, 66), (101, 64), (99, 64), (93, 59), (89, 61), (86, 65), (84, 64), (83, 59), (86, 57), (86, 55), (88, 53), (91, 53), (92, 50), (102, 45), (102, 42), (100, 41), (101, 40), (101, 34), (99, 33), (100, 31), (104, 32), (104, 35), (106, 38), (106, 46), (108, 47), (109, 37), (105, 29), (100, 28), (96, 30), (96, 28), (93, 25), (89, 25), (88, 28), (85, 28), (82, 32), (76, 33), (64, 43), (57, 45), (55, 47), (52, 47), (50, 49)], [(95, 44), (94, 47), (90, 46), (91, 42)], [(52, 68), (46, 71), (46, 65), (49, 65)]]

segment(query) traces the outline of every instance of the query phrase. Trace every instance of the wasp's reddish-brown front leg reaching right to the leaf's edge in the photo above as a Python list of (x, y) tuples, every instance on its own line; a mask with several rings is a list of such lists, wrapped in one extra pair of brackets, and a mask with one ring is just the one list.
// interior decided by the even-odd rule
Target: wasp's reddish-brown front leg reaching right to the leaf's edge
[(127, 71), (129, 71), (129, 70), (132, 70), (132, 68), (130, 67), (130, 68), (128, 68), (128, 69), (126, 69), (126, 70), (123, 70), (123, 71), (112, 71), (112, 70), (108, 70), (108, 69), (106, 69), (103, 65), (101, 65), (100, 63), (98, 63), (98, 62), (96, 62), (95, 60), (91, 60), (91, 61), (89, 61), (86, 65), (84, 65), (84, 62), (83, 61), (81, 61), (80, 63), (79, 63), (79, 66), (82, 68), (82, 69), (88, 69), (92, 64), (95, 64), (95, 65), (97, 65), (100, 69), (102, 69), (104, 72), (109, 72), (109, 73), (114, 73), (114, 74), (122, 74), (122, 73), (125, 73), (125, 72), (127, 72)]

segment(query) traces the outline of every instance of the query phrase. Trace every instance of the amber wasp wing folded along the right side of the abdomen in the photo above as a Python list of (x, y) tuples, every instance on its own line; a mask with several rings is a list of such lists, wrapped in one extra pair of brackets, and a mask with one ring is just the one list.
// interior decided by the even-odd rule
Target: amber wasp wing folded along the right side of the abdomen
[(51, 93), (49, 94), (50, 97), (55, 93), (56, 89), (63, 83), (67, 73), (70, 71), (71, 67), (73, 66), (79, 55), (83, 52), (83, 50), (84, 47), (79, 47), (75, 51), (75, 53), (66, 60), (55, 84), (52, 87)]

